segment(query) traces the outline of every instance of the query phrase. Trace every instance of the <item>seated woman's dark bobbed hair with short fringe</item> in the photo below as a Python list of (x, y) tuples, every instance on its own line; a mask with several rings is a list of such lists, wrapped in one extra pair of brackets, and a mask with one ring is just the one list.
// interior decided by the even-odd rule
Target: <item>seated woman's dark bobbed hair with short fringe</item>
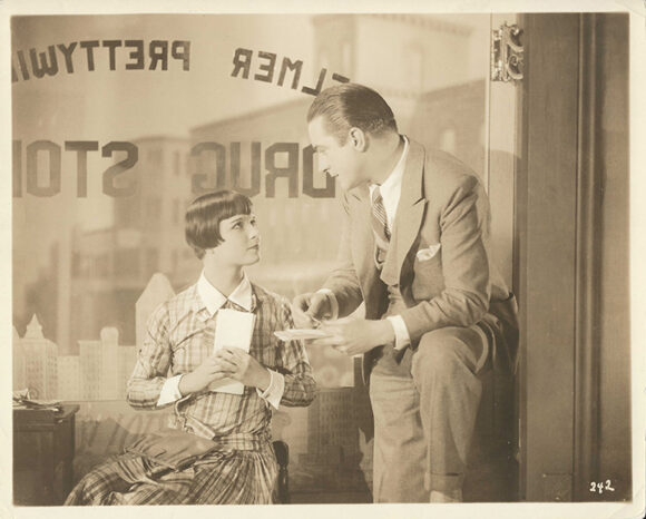
[(252, 200), (233, 190), (223, 189), (198, 196), (186, 209), (186, 243), (202, 260), (207, 248), (217, 247), (223, 242), (219, 234), (223, 219), (251, 212)]

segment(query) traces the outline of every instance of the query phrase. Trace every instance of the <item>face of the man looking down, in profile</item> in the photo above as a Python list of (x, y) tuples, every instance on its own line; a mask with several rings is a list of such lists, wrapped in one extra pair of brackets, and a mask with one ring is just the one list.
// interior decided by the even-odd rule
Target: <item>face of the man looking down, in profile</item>
[(350, 138), (341, 146), (336, 138), (325, 128), (322, 116), (307, 125), (310, 143), (319, 155), (319, 168), (333, 177), (337, 177), (343, 190), (352, 189), (361, 184), (361, 154), (352, 145)]

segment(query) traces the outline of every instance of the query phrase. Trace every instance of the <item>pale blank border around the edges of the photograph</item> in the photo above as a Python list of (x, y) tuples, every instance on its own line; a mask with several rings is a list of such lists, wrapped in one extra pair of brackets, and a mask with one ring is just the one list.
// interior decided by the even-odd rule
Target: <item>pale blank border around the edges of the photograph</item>
[[(633, 502), (594, 502), (594, 503), (460, 503), (453, 505), (290, 505), (266, 507), (124, 507), (114, 508), (61, 508), (61, 507), (13, 507), (11, 484), (11, 409), (2, 405), (0, 409), (0, 431), (4, 437), (2, 442), (2, 477), (0, 478), (0, 516), (8, 517), (112, 517), (115, 513), (137, 513), (137, 517), (175, 518), (175, 517), (302, 517), (304, 513), (314, 518), (339, 517), (479, 517), (497, 518), (516, 517), (642, 517), (644, 510), (645, 487), (645, 347), (646, 337), (646, 272), (643, 268), (644, 251), (646, 249), (646, 0), (639, 1), (398, 1), (355, 0), (349, 6), (340, 0), (329, 1), (324, 7), (320, 2), (270, 1), (255, 2), (249, 0), (226, 2), (185, 0), (180, 2), (129, 0), (114, 2), (88, 2), (69, 0), (65, 2), (3, 1), (0, 2), (0, 102), (2, 104), (1, 121), (2, 139), (0, 155), (6, 172), (11, 164), (11, 37), (10, 17), (25, 14), (125, 14), (125, 13), (325, 13), (325, 12), (572, 12), (572, 11), (617, 11), (628, 12), (630, 23), (630, 337), (632, 337), (632, 438), (633, 438)], [(395, 9), (397, 7), (397, 9)], [(7, 173), (0, 179), (0, 189), (6, 197), (11, 198), (11, 175)], [(0, 227), (3, 243), (0, 248), (0, 264), (4, 267), (3, 275), (7, 287), (11, 286), (11, 203), (0, 205)], [(3, 326), (4, 344), (11, 344), (11, 293), (4, 292), (0, 304), (7, 326)], [(0, 376), (0, 391), (11, 393), (11, 363), (4, 362)], [(9, 400), (7, 399), (6, 402)]]

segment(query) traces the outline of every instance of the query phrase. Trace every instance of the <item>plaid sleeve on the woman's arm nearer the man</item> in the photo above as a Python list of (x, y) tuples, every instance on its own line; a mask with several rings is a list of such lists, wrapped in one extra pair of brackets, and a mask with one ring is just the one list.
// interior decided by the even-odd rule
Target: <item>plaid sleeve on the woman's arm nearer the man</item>
[[(281, 330), (294, 327), (294, 320), (290, 305), (281, 305)], [(281, 404), (287, 407), (310, 405), (316, 396), (316, 382), (312, 375), (312, 366), (302, 341), (280, 341), (277, 371), (285, 378), (285, 390)]]

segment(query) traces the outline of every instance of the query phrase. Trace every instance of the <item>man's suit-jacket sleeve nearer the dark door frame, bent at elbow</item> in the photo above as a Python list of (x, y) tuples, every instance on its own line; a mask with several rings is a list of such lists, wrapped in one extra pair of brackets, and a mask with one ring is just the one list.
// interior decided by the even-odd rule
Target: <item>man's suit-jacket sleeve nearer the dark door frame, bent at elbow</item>
[(489, 258), (478, 214), (479, 183), (466, 177), (440, 216), (444, 290), (430, 301), (405, 310), (401, 317), (411, 341), (444, 326), (470, 326), (489, 309)]

